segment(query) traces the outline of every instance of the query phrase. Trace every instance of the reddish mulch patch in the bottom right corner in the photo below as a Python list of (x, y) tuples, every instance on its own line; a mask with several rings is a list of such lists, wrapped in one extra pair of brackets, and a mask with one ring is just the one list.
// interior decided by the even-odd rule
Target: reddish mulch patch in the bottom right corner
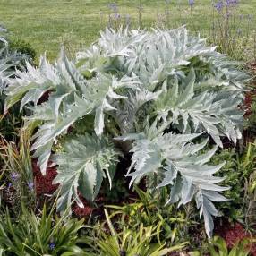
[[(252, 235), (244, 230), (241, 224), (235, 223), (231, 225), (227, 221), (216, 228), (215, 234), (225, 239), (228, 248), (232, 248), (235, 243), (243, 240), (243, 238), (252, 237)], [(256, 243), (252, 244), (251, 255), (256, 256)]]

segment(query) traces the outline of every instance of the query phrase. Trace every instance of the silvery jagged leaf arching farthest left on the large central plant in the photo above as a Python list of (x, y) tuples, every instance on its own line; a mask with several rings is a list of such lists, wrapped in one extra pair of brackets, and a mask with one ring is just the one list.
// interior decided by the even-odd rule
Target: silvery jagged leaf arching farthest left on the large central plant
[[(6, 90), (5, 109), (13, 106), (21, 100), (21, 108), (32, 102), (38, 104), (38, 100), (44, 94), (61, 91), (62, 94), (76, 91), (81, 93), (86, 86), (85, 79), (75, 69), (64, 54), (62, 49), (60, 57), (55, 64), (47, 62), (46, 55), (42, 55), (38, 68), (26, 63), (26, 72), (17, 71), (16, 78), (10, 81)], [(57, 94), (61, 95), (59, 92)]]

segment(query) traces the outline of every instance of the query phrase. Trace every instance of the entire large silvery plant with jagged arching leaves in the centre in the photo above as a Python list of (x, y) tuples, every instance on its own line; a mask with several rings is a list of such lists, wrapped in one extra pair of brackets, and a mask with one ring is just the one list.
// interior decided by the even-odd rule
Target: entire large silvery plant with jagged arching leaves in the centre
[(38, 127), (33, 156), (43, 174), (49, 159), (57, 166), (59, 210), (73, 200), (82, 207), (81, 195), (93, 201), (104, 178), (111, 188), (116, 164), (132, 155), (131, 185), (146, 178), (151, 191), (167, 186), (166, 203), (178, 206), (194, 199), (211, 235), (213, 202), (226, 201), (228, 187), (215, 176), (224, 163), (208, 162), (222, 138), (242, 137), (249, 80), (226, 55), (184, 27), (107, 29), (74, 61), (62, 50), (55, 64), (43, 55), (16, 76), (5, 110), (18, 101), (29, 108), (25, 127)]

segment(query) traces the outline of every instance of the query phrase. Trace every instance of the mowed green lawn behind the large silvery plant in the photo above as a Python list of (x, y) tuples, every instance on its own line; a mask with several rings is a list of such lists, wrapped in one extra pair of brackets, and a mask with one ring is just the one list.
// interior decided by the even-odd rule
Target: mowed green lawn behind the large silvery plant
[[(75, 49), (88, 46), (98, 38), (111, 13), (107, 0), (0, 0), (0, 23), (10, 31), (11, 38), (21, 38), (30, 42), (38, 55), (47, 52), (53, 60), (60, 44), (68, 41)], [(195, 0), (190, 8), (188, 0), (141, 0), (143, 26), (161, 26), (164, 21), (168, 27), (183, 24), (191, 30), (209, 35), (212, 21), (210, 0)], [(243, 14), (256, 14), (256, 0), (242, 0), (240, 10)], [(125, 23), (127, 15), (132, 28), (137, 28), (139, 0), (115, 1), (118, 13)], [(166, 12), (169, 19), (166, 19)], [(242, 21), (243, 22), (243, 21)], [(253, 18), (252, 28), (256, 29)], [(243, 25), (243, 24), (242, 24)]]

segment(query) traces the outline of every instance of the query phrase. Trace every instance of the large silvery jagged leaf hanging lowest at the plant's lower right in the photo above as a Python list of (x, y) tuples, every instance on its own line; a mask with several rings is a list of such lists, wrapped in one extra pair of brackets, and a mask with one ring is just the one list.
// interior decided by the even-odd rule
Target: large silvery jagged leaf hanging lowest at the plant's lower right
[(119, 138), (122, 141), (133, 140), (132, 165), (127, 176), (132, 177), (133, 183), (142, 177), (157, 175), (160, 180), (158, 187), (171, 188), (170, 199), (166, 203), (178, 202), (178, 205), (182, 205), (195, 198), (203, 213), (206, 232), (210, 237), (213, 229), (211, 216), (218, 215), (211, 201), (224, 201), (225, 198), (218, 192), (228, 189), (217, 184), (224, 178), (214, 174), (225, 163), (218, 166), (207, 164), (217, 148), (201, 154), (200, 151), (205, 148), (208, 140), (192, 143), (200, 133), (164, 133), (161, 132), (162, 129), (156, 128), (156, 122), (152, 126), (140, 136), (128, 134)]

